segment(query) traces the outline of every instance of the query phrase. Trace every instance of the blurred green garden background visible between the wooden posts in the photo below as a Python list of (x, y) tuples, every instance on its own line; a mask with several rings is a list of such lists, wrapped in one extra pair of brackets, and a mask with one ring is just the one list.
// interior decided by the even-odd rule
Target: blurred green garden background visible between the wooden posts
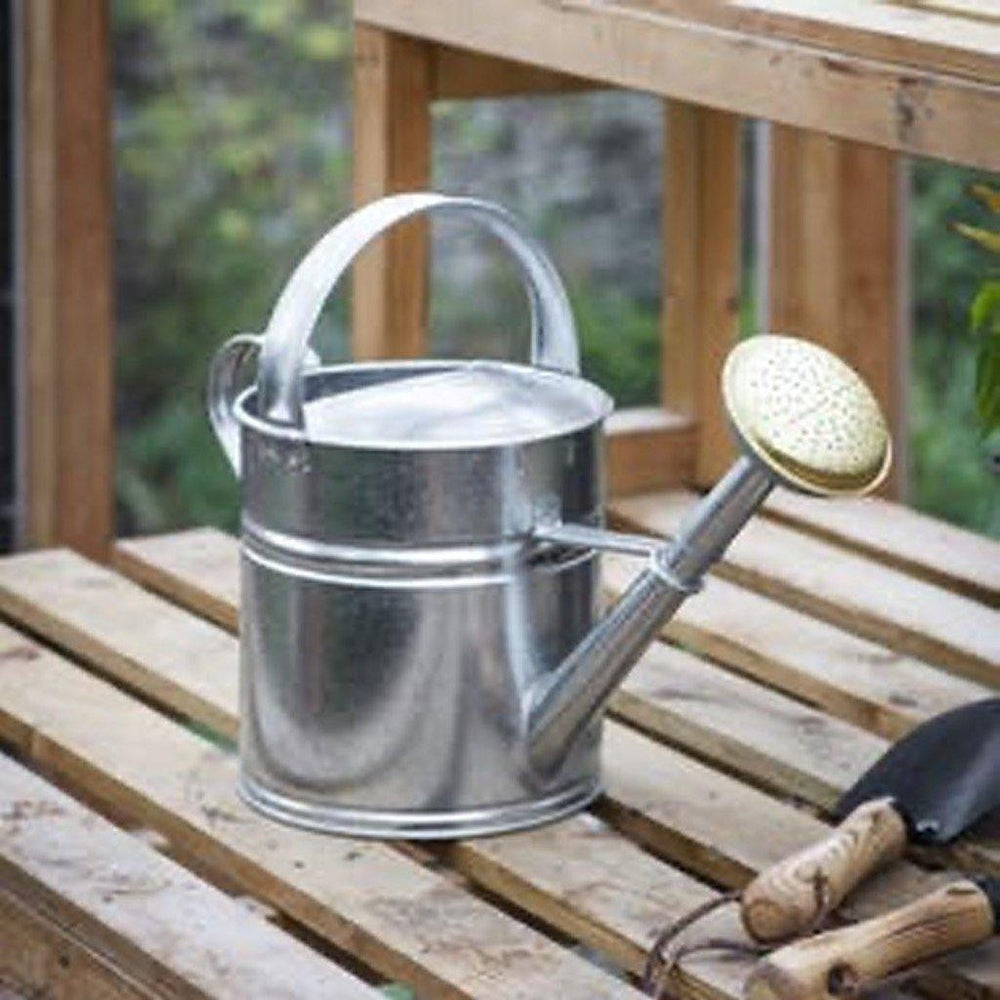
[[(236, 485), (204, 415), (208, 360), (230, 334), (263, 329), (298, 259), (350, 208), (350, 5), (115, 0), (112, 12), (118, 530), (233, 528)], [(585, 373), (619, 405), (655, 403), (660, 102), (595, 92), (443, 103), (434, 115), (435, 188), (525, 219), (570, 290)], [(748, 216), (755, 135), (748, 126)], [(911, 164), (908, 501), (1000, 537), (968, 320), (990, 260), (947, 228), (984, 221), (972, 180), (998, 179)], [(757, 328), (753, 235), (745, 333)], [(523, 356), (527, 308), (502, 256), (442, 224), (433, 260), (433, 350)], [(324, 358), (346, 357), (348, 304), (345, 287), (326, 309)]]

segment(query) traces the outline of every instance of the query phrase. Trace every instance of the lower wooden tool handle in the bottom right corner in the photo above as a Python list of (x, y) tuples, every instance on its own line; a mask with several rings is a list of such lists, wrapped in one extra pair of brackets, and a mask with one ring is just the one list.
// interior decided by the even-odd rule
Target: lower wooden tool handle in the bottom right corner
[(890, 913), (779, 948), (754, 967), (746, 1000), (845, 1000), (903, 969), (990, 938), (993, 906), (970, 880)]

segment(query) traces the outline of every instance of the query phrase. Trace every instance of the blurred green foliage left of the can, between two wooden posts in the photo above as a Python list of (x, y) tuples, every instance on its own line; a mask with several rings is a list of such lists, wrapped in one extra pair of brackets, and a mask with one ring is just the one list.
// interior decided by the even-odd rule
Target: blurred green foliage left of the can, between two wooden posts
[[(116, 0), (119, 528), (231, 526), (208, 359), (260, 329), (348, 203), (348, 11), (307, 0)], [(344, 304), (324, 317), (343, 354)]]

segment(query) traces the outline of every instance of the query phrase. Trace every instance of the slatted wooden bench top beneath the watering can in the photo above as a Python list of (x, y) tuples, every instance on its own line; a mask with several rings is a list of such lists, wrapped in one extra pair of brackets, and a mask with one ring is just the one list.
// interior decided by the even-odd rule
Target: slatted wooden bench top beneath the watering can
[[(669, 532), (689, 499), (613, 514)], [(237, 798), (234, 539), (120, 542), (113, 569), (66, 550), (0, 560), (0, 983), (638, 997), (662, 926), (814, 838), (888, 740), (1000, 687), (1000, 546), (861, 503), (829, 502), (803, 530), (804, 502), (777, 496), (748, 527), (615, 696), (593, 809), (437, 846), (312, 834)], [(605, 561), (610, 591), (628, 569)], [(1000, 836), (898, 864), (846, 915), (926, 890), (941, 865), (1000, 873)], [(701, 932), (737, 935), (732, 908)], [(748, 969), (692, 956), (671, 990), (735, 1000)], [(880, 996), (913, 985), (998, 997), (1000, 942)]]

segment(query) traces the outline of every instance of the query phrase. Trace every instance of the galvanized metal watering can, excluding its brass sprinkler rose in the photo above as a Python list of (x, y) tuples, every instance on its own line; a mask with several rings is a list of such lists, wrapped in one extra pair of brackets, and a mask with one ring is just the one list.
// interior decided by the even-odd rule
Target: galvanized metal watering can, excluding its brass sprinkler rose
[[(343, 271), (421, 212), (467, 216), (513, 253), (532, 366), (316, 363), (308, 340)], [(240, 391), (256, 352), (256, 383)], [(334, 227), (267, 332), (220, 349), (209, 411), (243, 486), (240, 785), (253, 805), (331, 832), (438, 838), (552, 820), (598, 793), (611, 692), (780, 477), (749, 441), (673, 542), (606, 531), (611, 401), (577, 370), (568, 300), (541, 248), (496, 206), (432, 194)], [(467, 372), (554, 401), (555, 422), (483, 440), (455, 428), (441, 442), (369, 440), (361, 426), (310, 435), (313, 405), (411, 386), (433, 401), (433, 379)], [(603, 618), (601, 548), (647, 556)]]

